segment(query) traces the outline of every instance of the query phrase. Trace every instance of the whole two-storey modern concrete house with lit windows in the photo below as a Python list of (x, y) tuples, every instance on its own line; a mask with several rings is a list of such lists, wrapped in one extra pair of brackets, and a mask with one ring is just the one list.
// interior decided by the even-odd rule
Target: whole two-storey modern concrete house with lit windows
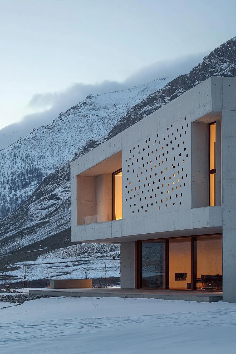
[(121, 289), (236, 302), (236, 78), (209, 78), (73, 161), (71, 241), (120, 243)]

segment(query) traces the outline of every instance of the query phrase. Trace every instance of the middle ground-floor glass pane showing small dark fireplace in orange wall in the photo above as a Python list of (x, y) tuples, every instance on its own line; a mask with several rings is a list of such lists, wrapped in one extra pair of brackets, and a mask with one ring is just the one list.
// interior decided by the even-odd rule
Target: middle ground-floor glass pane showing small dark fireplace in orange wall
[(169, 239), (169, 289), (191, 289), (191, 238)]

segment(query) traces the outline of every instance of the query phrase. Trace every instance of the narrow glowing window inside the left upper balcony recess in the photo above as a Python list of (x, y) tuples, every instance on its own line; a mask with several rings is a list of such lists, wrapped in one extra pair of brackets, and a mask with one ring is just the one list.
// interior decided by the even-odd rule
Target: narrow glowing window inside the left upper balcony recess
[(113, 220), (122, 219), (122, 170), (113, 173)]

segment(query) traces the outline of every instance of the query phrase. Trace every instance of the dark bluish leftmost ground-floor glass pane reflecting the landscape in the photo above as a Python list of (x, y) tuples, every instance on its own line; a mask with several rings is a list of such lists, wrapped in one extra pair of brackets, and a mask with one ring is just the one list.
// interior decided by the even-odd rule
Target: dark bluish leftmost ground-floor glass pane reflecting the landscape
[(142, 242), (142, 287), (165, 287), (165, 241)]

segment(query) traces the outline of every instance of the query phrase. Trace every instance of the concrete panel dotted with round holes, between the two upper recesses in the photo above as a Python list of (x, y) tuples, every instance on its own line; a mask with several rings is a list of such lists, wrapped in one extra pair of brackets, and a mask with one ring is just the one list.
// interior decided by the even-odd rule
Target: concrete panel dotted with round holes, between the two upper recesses
[(123, 204), (129, 217), (189, 207), (190, 155), (186, 117), (123, 152)]

